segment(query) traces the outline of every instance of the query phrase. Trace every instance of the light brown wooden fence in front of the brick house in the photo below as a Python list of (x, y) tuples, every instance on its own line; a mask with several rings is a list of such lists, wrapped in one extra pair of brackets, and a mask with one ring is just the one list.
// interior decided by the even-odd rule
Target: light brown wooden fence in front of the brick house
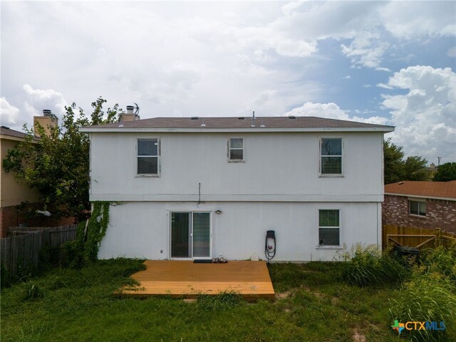
[(383, 247), (411, 246), (435, 247), (436, 244), (456, 242), (456, 235), (442, 232), (440, 229), (402, 227), (385, 224), (382, 232)]

